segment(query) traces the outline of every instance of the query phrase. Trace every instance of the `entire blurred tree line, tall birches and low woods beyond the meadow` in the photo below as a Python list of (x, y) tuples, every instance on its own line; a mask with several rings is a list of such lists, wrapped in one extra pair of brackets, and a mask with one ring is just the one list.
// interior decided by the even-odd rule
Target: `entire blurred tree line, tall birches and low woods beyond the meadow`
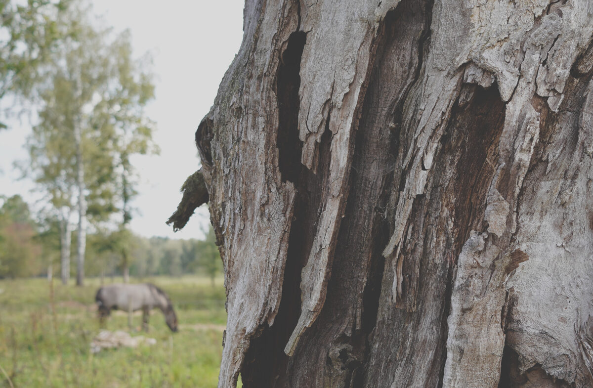
[(0, 129), (32, 117), (28, 160), (17, 167), (44, 204), (32, 221), (22, 198), (4, 198), (0, 276), (39, 275), (55, 262), (62, 281), (75, 273), (77, 285), (85, 269), (119, 271), (125, 281), (130, 272), (197, 270), (190, 255), (210, 249), (205, 242), (146, 239), (129, 228), (132, 159), (159, 152), (145, 114), (150, 56), (135, 56), (129, 31), (104, 26), (82, 0), (0, 0), (0, 21)]

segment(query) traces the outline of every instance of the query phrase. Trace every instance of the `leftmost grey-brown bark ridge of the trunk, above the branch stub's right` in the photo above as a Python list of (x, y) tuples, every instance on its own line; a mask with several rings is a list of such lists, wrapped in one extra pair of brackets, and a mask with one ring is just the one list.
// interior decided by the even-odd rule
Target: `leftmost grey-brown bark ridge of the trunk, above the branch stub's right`
[[(219, 387), (236, 385), (252, 339), (273, 324), (281, 300), (295, 188), (282, 182), (278, 168), (280, 58), (270, 47), (286, 44), (297, 30), (297, 7), (294, 1), (246, 1), (243, 43), (221, 82), (227, 93), (218, 94), (196, 134), (225, 266), (228, 319)], [(269, 23), (273, 30), (263, 27)]]

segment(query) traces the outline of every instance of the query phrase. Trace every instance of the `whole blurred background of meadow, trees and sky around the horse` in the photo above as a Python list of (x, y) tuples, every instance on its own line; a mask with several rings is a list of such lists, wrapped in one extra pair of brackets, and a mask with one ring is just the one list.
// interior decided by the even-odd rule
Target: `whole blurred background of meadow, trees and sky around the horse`
[[(0, 0), (0, 387), (215, 387), (225, 327), (208, 209), (165, 225), (240, 47), (243, 2)], [(177, 310), (107, 330), (95, 292), (152, 282)]]

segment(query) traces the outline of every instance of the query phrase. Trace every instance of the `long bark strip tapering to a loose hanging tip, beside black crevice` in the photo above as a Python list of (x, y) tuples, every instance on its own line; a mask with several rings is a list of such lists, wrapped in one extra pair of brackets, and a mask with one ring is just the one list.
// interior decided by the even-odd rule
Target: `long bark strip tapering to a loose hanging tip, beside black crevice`
[[(386, 2), (397, 4), (397, 2)], [(306, 30), (311, 24), (311, 8), (314, 6), (331, 8), (330, 2), (311, 4), (306, 7), (307, 12), (302, 15), (302, 23)], [(374, 4), (366, 2), (356, 3), (356, 9), (347, 14), (347, 20), (340, 15), (329, 12), (326, 15), (317, 14), (315, 18), (329, 16), (330, 20), (317, 20), (321, 22), (318, 31), (311, 31), (310, 43), (304, 49), (301, 77), (317, 79), (319, 83), (307, 82), (301, 84), (301, 112), (299, 112), (299, 131), (303, 140), (302, 163), (313, 171), (318, 171), (318, 144), (320, 142), (321, 128), (329, 128), (332, 136), (331, 161), (329, 164), (329, 178), (327, 179), (327, 196), (324, 197), (323, 206), (317, 217), (314, 230), (313, 246), (307, 263), (302, 270), (301, 291), (302, 304), (301, 316), (297, 326), (286, 344), (285, 351), (292, 355), (302, 334), (313, 325), (323, 308), (326, 294), (327, 281), (330, 277), (336, 241), (340, 222), (344, 214), (352, 163), (353, 131), (358, 121), (358, 110), (362, 101), (362, 94), (368, 75), (371, 46), (376, 34), (375, 26), (381, 20), (381, 15), (387, 9), (380, 9)], [(358, 16), (357, 16), (358, 15)], [(361, 20), (361, 15), (364, 15)], [(377, 18), (377, 19), (375, 19)], [(350, 24), (351, 23), (351, 24)], [(367, 28), (369, 23), (373, 28)], [(327, 26), (335, 27), (332, 30), (333, 39), (339, 39), (350, 47), (346, 52), (336, 53), (335, 58), (328, 57), (327, 52), (335, 51), (335, 43), (327, 39), (323, 31)], [(356, 26), (356, 27), (353, 27)], [(364, 26), (364, 28), (361, 28)], [(326, 60), (337, 61), (333, 65), (340, 66), (340, 71), (331, 68)], [(333, 74), (329, 78), (318, 78), (321, 74)], [(329, 83), (328, 83), (329, 82)], [(311, 85), (314, 85), (311, 88)], [(324, 87), (327, 89), (324, 90)], [(314, 113), (313, 113), (314, 112)], [(308, 117), (309, 114), (313, 116)], [(311, 120), (310, 120), (311, 119)]]

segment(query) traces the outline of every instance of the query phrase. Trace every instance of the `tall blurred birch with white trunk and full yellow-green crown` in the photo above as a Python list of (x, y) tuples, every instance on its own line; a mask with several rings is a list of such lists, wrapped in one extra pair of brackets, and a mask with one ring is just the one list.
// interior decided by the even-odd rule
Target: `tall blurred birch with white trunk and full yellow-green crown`
[[(143, 110), (154, 97), (151, 75), (143, 70), (146, 59), (132, 58), (129, 33), (110, 40), (108, 30), (88, 20), (88, 12), (77, 5), (63, 15), (75, 32), (55, 53), (55, 68), (41, 93), (40, 123), (28, 144), (36, 181), (55, 206), (78, 213), (78, 285), (84, 279), (87, 218), (107, 221), (121, 211), (125, 229), (135, 195), (130, 157), (158, 151)], [(64, 225), (67, 232), (68, 222)], [(120, 253), (127, 268), (129, 252)]]

